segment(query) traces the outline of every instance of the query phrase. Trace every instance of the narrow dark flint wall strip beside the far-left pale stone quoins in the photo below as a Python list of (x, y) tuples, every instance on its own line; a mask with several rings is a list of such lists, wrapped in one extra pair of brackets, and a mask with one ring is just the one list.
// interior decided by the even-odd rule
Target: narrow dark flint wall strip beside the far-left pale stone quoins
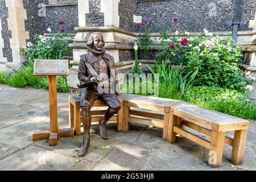
[(35, 35), (43, 35), (46, 32), (46, 14), (42, 4), (48, 4), (48, 0), (23, 0), (24, 9), (27, 10), (27, 20), (25, 20), (25, 30), (30, 33), (30, 40), (27, 42), (35, 42)]

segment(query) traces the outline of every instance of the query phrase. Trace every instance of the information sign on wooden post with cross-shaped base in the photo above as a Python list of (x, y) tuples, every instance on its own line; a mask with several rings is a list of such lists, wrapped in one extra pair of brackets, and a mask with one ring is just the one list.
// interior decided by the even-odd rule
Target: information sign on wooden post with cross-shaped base
[[(73, 137), (73, 127), (69, 129), (60, 129), (57, 121), (57, 75), (68, 75), (68, 60), (38, 60), (34, 61), (34, 75), (48, 76), (49, 82), (49, 116), (50, 129), (49, 131), (34, 131), (32, 139), (47, 139), (49, 138), (49, 145), (55, 146), (57, 144), (57, 137)], [(72, 126), (73, 110), (69, 104), (69, 125)]]

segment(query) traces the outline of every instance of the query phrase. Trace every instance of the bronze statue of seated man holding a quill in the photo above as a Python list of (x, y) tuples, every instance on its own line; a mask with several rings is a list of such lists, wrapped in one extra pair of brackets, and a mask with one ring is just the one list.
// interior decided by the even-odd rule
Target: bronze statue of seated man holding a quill
[[(92, 121), (90, 109), (94, 101), (103, 100), (109, 106), (104, 118), (98, 123), (100, 135), (103, 139), (109, 139), (106, 122), (121, 108), (121, 103), (117, 98), (117, 94), (120, 94), (117, 70), (114, 58), (105, 53), (103, 36), (98, 32), (93, 33), (90, 35), (86, 46), (88, 52), (80, 56), (78, 73), (80, 84), (82, 83), (78, 86), (82, 88), (80, 106), (82, 124), (84, 125), (84, 139), (79, 151), (80, 156), (87, 153), (90, 144), (90, 125)], [(107, 83), (104, 84), (103, 89), (98, 85), (102, 82)]]

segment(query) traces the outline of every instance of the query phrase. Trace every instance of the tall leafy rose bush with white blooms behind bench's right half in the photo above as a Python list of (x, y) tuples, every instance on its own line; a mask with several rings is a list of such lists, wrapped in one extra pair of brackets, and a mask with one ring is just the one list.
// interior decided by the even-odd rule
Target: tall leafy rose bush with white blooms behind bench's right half
[[(245, 90), (251, 84), (243, 76), (237, 62), (241, 61), (241, 47), (232, 46), (232, 39), (211, 39), (214, 46), (207, 47), (207, 43), (198, 49), (192, 49), (187, 56), (187, 71), (199, 70), (196, 85), (207, 85), (236, 90)], [(232, 52), (234, 54), (232, 54)]]

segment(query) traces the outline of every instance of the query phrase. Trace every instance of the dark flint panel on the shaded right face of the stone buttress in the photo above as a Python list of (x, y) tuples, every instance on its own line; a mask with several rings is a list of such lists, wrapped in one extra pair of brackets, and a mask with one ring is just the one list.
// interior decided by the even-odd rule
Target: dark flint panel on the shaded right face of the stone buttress
[(133, 22), (133, 15), (136, 14), (137, 0), (120, 0), (118, 7), (119, 28), (135, 31), (136, 24)]

